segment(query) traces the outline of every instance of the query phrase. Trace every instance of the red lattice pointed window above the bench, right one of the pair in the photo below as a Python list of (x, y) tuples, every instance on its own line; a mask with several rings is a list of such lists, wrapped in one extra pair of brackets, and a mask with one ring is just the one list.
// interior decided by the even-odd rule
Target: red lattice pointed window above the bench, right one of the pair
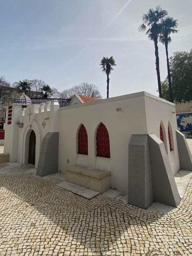
[(96, 146), (97, 156), (110, 157), (109, 134), (103, 123), (101, 123), (97, 129)]

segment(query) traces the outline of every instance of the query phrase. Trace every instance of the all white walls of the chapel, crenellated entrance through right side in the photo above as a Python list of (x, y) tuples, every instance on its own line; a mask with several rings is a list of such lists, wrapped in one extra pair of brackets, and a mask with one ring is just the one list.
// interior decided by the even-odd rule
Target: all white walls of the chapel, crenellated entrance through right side
[[(121, 108), (117, 112), (116, 108)], [(29, 109), (32, 113), (29, 121)], [(164, 131), (164, 144), (173, 173), (179, 171), (179, 157), (175, 130), (177, 122), (175, 105), (146, 92), (138, 92), (59, 108), (56, 101), (29, 105), (21, 112), (20, 104), (13, 104), (12, 124), (5, 124), (4, 153), (10, 161), (28, 162), (28, 143), (31, 129), (36, 134), (36, 164), (43, 137), (47, 132), (59, 132), (59, 170), (71, 164), (87, 165), (111, 171), (112, 188), (127, 191), (128, 144), (132, 134), (155, 133), (158, 137), (160, 123)], [(44, 120), (49, 118), (48, 120)], [(19, 128), (17, 122), (23, 123)], [(43, 128), (42, 123), (46, 125)], [(109, 133), (110, 158), (96, 156), (96, 131), (102, 122)], [(168, 123), (173, 150), (168, 142)], [(84, 124), (88, 134), (88, 155), (77, 154), (77, 131)], [(69, 164), (67, 163), (69, 159)]]

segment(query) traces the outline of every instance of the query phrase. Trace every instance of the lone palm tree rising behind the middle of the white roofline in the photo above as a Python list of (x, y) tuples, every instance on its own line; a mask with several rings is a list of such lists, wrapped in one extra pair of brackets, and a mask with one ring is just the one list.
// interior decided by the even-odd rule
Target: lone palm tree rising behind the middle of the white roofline
[(113, 70), (112, 67), (116, 66), (115, 60), (113, 59), (113, 56), (110, 58), (103, 57), (100, 62), (102, 71), (107, 74), (107, 98), (109, 97), (109, 74), (111, 74), (111, 71)]

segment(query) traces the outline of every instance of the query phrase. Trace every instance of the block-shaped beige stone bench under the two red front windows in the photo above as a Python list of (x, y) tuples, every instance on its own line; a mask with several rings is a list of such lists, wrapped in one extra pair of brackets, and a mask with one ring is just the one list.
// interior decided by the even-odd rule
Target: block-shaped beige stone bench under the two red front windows
[(111, 172), (74, 164), (66, 167), (66, 181), (103, 193), (111, 188)]

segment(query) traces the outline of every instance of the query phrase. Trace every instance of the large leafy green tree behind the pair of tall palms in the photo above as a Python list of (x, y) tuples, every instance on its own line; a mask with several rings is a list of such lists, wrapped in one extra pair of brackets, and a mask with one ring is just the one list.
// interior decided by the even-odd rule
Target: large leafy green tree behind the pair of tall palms
[[(169, 60), (173, 102), (192, 100), (192, 49), (174, 52)], [(162, 98), (170, 101), (168, 78), (161, 86)]]

